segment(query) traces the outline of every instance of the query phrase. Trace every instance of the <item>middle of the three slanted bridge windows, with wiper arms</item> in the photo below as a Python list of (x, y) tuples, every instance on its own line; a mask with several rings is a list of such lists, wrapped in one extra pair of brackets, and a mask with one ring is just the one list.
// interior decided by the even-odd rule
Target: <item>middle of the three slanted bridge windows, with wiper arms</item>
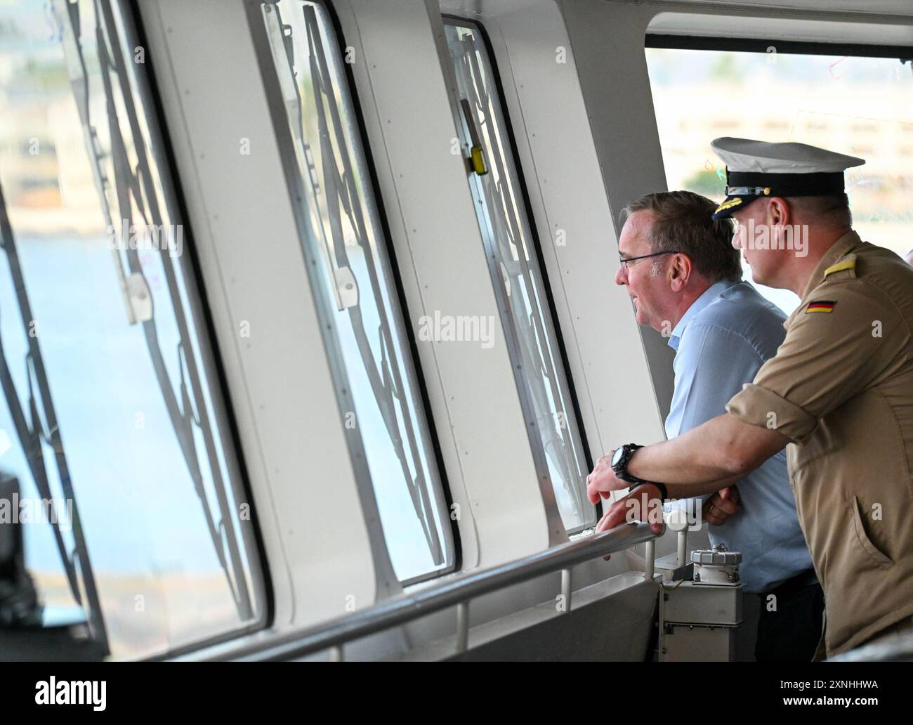
[(320, 3), (259, 9), (340, 424), (394, 572), (415, 582), (454, 568), (454, 539), (339, 42)]

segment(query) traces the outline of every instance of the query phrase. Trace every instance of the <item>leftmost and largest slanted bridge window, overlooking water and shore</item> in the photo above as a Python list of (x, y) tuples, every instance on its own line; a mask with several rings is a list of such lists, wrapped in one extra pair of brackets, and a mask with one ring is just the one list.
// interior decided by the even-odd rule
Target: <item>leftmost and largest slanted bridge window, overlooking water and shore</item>
[(0, 627), (28, 627), (0, 632), (6, 655), (28, 645), (14, 659), (152, 656), (265, 619), (123, 5), (0, 11)]

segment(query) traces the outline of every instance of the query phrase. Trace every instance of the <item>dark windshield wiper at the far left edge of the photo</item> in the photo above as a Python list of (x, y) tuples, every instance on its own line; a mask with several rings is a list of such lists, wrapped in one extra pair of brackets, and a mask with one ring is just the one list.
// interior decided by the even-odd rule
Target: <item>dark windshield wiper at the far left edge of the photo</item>
[[(67, 542), (64, 541), (63, 532), (60, 530), (60, 512), (56, 510), (48, 511), (51, 514), (48, 517), (48, 522), (54, 531), (54, 541), (57, 544), (60, 561), (63, 562), (64, 572), (67, 574), (67, 582), (70, 592), (73, 594), (73, 599), (80, 606), (88, 608), (87, 614), (91, 634), (98, 644), (104, 647), (104, 651), (108, 652), (108, 634), (105, 629), (104, 617), (101, 613), (99, 593), (95, 585), (92, 565), (89, 561), (89, 548), (86, 546), (86, 540), (82, 532), (76, 494), (73, 491), (73, 483), (69, 477), (69, 466), (67, 454), (63, 447), (63, 437), (58, 427), (57, 413), (54, 410), (54, 402), (51, 399), (50, 386), (47, 384), (44, 358), (41, 356), (41, 347), (38, 344), (37, 335), (31, 334), (32, 320), (35, 320), (35, 318), (32, 315), (32, 308), (28, 301), (26, 280), (22, 274), (22, 267), (19, 265), (13, 226), (6, 212), (2, 183), (0, 183), (0, 248), (3, 248), (6, 253), (10, 276), (13, 278), (13, 289), (16, 290), (19, 315), (22, 320), (26, 341), (28, 342), (28, 352), (26, 353), (27, 416), (16, 390), (13, 373), (6, 362), (2, 337), (0, 337), (0, 386), (3, 387), (10, 417), (13, 420), (13, 426), (16, 428), (16, 437), (19, 439), (19, 445), (22, 447), (23, 455), (26, 457), (32, 479), (35, 481), (38, 496), (41, 499), (50, 500), (52, 507), (55, 497), (51, 493), (50, 479), (47, 476), (45, 447), (42, 442), (47, 443), (54, 451), (53, 460), (58, 470), (58, 479), (60, 487), (63, 489), (64, 499), (72, 504), (72, 520), (70, 521), (74, 541), (72, 552), (68, 552)], [(36, 386), (39, 400), (36, 400)], [(83, 596), (83, 592), (85, 592), (85, 596)]]

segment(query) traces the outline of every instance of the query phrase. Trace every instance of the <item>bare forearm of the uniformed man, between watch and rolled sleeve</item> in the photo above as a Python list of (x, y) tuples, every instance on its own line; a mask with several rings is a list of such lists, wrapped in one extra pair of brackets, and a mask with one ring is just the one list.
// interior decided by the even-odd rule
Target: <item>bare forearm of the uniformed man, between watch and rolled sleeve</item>
[(687, 499), (725, 488), (787, 443), (786, 436), (727, 413), (665, 443), (640, 448), (628, 471), (665, 483), (669, 498)]

